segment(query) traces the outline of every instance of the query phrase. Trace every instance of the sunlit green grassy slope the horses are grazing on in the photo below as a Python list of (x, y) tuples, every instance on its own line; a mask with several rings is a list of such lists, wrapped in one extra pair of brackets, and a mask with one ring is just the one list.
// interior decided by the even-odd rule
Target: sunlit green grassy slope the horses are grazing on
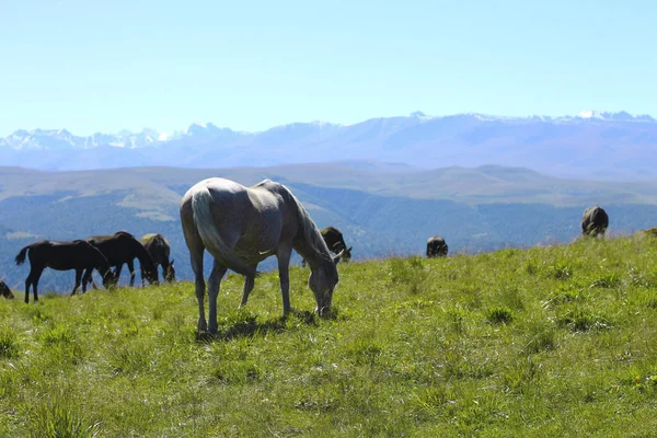
[(644, 234), (0, 301), (0, 436), (654, 436), (657, 242)]

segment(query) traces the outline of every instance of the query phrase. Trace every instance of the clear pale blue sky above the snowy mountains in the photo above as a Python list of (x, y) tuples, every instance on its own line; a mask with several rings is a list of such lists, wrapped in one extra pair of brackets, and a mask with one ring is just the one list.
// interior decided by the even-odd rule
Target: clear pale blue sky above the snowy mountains
[(0, 1), (0, 136), (657, 116), (652, 1)]

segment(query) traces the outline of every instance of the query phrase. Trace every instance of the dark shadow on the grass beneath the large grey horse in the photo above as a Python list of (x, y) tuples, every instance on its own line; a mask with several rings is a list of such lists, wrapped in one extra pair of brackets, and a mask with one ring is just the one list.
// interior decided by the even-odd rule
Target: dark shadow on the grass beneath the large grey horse
[(336, 320), (337, 310), (330, 314), (320, 316), (315, 312), (308, 310), (291, 310), (290, 313), (267, 321), (257, 321), (256, 315), (241, 315), (239, 320), (229, 320), (223, 326), (219, 326), (216, 335), (208, 332), (197, 332), (196, 341), (208, 343), (212, 341), (230, 341), (239, 337), (253, 337), (267, 333), (281, 333), (293, 330), (300, 325), (315, 325), (319, 320)]

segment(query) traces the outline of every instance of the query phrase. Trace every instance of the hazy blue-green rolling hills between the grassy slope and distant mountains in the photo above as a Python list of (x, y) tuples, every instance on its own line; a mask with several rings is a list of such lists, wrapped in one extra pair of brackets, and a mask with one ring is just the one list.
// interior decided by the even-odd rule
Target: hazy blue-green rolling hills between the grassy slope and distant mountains
[[(178, 204), (209, 176), (245, 185), (265, 177), (285, 183), (320, 228), (343, 231), (355, 260), (422, 254), (434, 234), (447, 239), (452, 254), (570, 242), (580, 233), (581, 211), (596, 204), (609, 212), (612, 233), (657, 224), (656, 184), (564, 180), (519, 168), (418, 171), (353, 162), (81, 172), (0, 168), (0, 278), (23, 288), (28, 267), (15, 266), (13, 257), (36, 240), (117, 230), (137, 237), (161, 232), (171, 242), (180, 278), (192, 278)], [(274, 266), (269, 260), (261, 268)], [(50, 269), (41, 281), (44, 290), (68, 291), (72, 285), (72, 273)]]

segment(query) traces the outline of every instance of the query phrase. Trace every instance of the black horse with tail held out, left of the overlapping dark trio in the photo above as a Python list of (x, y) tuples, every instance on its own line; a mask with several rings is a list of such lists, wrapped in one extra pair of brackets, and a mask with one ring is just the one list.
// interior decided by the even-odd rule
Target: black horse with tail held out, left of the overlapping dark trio
[[(55, 242), (43, 240), (27, 245), (16, 255), (16, 265), (25, 262), (25, 255), (30, 258), (30, 274), (25, 279), (25, 302), (30, 302), (30, 286), (34, 292), (34, 301), (38, 301), (38, 279), (45, 268), (57, 270), (76, 269), (76, 286), (71, 295), (74, 295), (80, 286), (82, 273), (88, 269), (99, 269), (103, 277), (103, 286), (106, 288), (116, 281), (110, 269), (107, 258), (89, 242), (74, 240), (72, 242)], [(82, 292), (87, 286), (82, 284)]]

